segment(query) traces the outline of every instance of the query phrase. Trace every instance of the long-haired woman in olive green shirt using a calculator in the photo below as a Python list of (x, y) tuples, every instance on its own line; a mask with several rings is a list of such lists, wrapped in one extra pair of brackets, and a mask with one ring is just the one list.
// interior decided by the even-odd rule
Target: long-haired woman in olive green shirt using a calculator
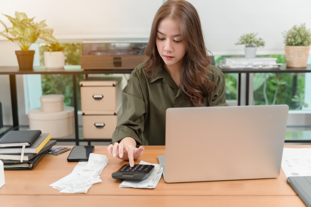
[(159, 8), (145, 54), (123, 90), (123, 113), (108, 146), (130, 166), (143, 145), (165, 145), (167, 108), (227, 106), (224, 75), (209, 65), (200, 19), (189, 2), (169, 0)]

